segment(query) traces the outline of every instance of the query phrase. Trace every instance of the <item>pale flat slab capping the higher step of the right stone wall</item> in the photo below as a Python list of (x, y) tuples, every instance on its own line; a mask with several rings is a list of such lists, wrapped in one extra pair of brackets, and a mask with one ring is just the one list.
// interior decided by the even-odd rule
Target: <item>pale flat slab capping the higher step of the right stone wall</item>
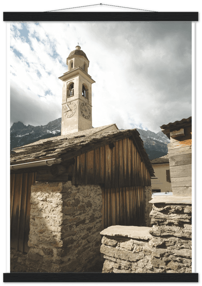
[(191, 204), (191, 197), (156, 196), (149, 201), (152, 204)]

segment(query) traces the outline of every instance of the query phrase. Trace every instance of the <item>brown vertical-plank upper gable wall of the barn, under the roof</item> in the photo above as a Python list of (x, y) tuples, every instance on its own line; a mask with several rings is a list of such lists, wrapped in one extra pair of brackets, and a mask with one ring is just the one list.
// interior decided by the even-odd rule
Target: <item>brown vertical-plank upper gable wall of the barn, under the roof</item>
[(151, 176), (130, 138), (79, 155), (73, 184), (104, 184), (105, 188), (150, 186)]

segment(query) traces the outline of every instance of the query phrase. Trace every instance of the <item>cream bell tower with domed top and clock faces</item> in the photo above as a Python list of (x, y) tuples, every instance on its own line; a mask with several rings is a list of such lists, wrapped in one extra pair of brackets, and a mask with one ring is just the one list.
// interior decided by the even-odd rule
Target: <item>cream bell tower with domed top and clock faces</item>
[(89, 60), (80, 46), (67, 57), (68, 72), (63, 81), (61, 135), (92, 128), (92, 89)]

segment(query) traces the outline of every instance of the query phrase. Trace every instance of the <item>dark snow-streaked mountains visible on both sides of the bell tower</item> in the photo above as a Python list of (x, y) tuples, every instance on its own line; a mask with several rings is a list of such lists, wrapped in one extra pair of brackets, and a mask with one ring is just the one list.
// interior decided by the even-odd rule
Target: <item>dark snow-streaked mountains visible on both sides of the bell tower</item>
[[(162, 132), (154, 133), (150, 130), (136, 128), (143, 140), (145, 150), (150, 160), (162, 157), (168, 153), (168, 137)], [(61, 135), (61, 118), (49, 122), (47, 125), (24, 125), (18, 121), (11, 126), (10, 144), (11, 150), (40, 139), (46, 139)]]

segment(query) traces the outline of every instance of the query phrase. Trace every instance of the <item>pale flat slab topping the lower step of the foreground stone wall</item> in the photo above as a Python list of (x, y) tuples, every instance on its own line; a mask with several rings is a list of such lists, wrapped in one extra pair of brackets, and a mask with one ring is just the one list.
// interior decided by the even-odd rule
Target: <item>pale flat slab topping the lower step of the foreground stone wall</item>
[(136, 239), (148, 240), (152, 237), (149, 231), (150, 227), (138, 227), (138, 226), (123, 226), (123, 225), (113, 225), (101, 232), (102, 235), (108, 236), (125, 236)]

